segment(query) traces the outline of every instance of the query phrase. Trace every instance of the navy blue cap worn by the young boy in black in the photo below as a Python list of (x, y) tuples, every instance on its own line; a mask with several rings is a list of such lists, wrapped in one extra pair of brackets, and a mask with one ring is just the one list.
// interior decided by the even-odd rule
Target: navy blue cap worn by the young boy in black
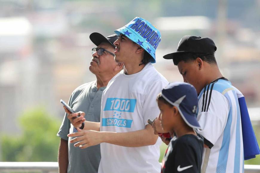
[(185, 123), (195, 129), (201, 129), (196, 112), (198, 95), (194, 86), (184, 82), (174, 82), (167, 85), (161, 92), (162, 97), (176, 106)]

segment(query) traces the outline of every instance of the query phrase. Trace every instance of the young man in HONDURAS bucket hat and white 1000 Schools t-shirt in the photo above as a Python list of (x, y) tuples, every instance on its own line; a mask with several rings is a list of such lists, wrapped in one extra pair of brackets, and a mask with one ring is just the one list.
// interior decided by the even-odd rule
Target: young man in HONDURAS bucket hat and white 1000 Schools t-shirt
[[(155, 63), (160, 32), (149, 21), (137, 17), (115, 33), (119, 35), (114, 42), (115, 60), (124, 64), (124, 70), (111, 79), (103, 92), (100, 132), (69, 134), (81, 136), (71, 143), (78, 142), (75, 146), (80, 148), (100, 143), (100, 173), (158, 173), (161, 140), (147, 120), (159, 114), (156, 97), (168, 84), (151, 64)], [(84, 129), (89, 128), (85, 125)]]

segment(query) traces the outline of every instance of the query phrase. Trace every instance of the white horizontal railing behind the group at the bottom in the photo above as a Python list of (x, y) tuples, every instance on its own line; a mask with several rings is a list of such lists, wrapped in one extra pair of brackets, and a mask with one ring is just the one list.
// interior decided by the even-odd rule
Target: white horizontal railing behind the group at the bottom
[[(245, 173), (259, 173), (260, 165), (245, 165)], [(57, 162), (0, 162), (0, 172), (30, 172), (42, 171), (43, 173), (58, 172)]]

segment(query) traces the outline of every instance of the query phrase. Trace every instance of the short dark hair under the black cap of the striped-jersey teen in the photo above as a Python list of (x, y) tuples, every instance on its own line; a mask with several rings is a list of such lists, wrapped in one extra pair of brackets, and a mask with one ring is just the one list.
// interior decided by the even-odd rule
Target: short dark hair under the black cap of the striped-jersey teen
[(184, 61), (184, 62), (189, 62), (192, 60), (195, 60), (196, 58), (201, 58), (202, 61), (206, 61), (209, 64), (217, 64), (216, 58), (214, 55), (209, 54), (209, 53), (194, 53), (194, 52), (185, 52), (178, 57), (172, 59), (174, 65), (178, 65), (179, 62)]

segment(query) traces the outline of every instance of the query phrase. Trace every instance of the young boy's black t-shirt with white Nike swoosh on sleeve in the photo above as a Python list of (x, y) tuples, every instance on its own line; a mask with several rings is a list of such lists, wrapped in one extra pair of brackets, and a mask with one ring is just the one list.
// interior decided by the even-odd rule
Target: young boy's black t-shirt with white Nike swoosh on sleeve
[(201, 172), (203, 137), (183, 135), (172, 138), (162, 161), (162, 173)]

